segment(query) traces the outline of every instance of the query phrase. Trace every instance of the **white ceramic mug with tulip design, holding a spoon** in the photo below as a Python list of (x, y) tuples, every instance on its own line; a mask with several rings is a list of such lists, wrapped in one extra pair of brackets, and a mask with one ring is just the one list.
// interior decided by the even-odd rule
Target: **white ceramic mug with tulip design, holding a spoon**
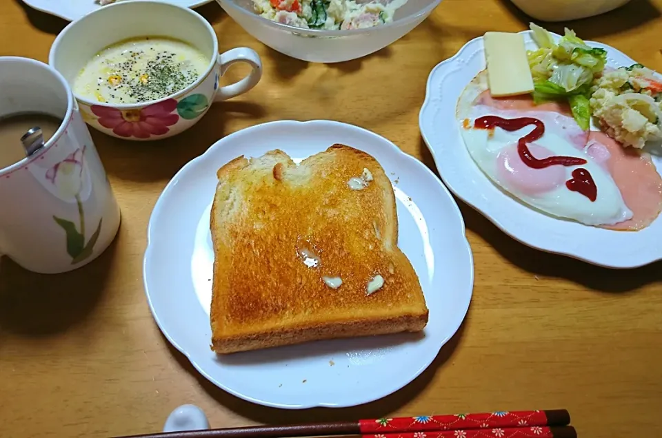
[(110, 245), (119, 207), (67, 81), (34, 59), (0, 57), (0, 118), (34, 112), (62, 123), (37, 152), (0, 169), (0, 255), (30, 271), (71, 271)]

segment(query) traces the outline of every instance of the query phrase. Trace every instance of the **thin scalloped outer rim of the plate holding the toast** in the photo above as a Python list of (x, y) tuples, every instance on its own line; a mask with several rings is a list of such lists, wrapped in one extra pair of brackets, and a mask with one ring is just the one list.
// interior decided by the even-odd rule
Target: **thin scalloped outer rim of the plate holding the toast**
[[(205, 370), (204, 366), (201, 366), (201, 364), (198, 363), (197, 358), (194, 357), (194, 355), (188, 353), (187, 348), (185, 348), (183, 345), (181, 345), (179, 342), (177, 342), (177, 340), (175, 339), (175, 336), (173, 336), (171, 333), (169, 333), (168, 329), (166, 328), (164, 322), (159, 317), (158, 313), (156, 311), (154, 311), (154, 305), (152, 303), (152, 296), (150, 295), (148, 279), (147, 279), (147, 275), (146, 275), (146, 273), (148, 271), (148, 263), (149, 263), (149, 260), (150, 260), (150, 253), (151, 253), (152, 248), (153, 248), (153, 245), (150, 245), (150, 242), (154, 239), (154, 237), (152, 235), (153, 228), (154, 228), (153, 225), (154, 225), (154, 221), (157, 218), (156, 213), (157, 213), (157, 211), (159, 211), (159, 206), (161, 205), (161, 202), (164, 202), (163, 200), (165, 199), (165, 196), (168, 195), (168, 192), (170, 190), (172, 190), (172, 187), (174, 187), (174, 185), (177, 185), (177, 183), (178, 183), (179, 179), (181, 178), (181, 176), (183, 176), (186, 172), (190, 171), (190, 169), (193, 169), (194, 166), (197, 163), (201, 162), (201, 160), (204, 160), (207, 156), (210, 156), (210, 154), (213, 153), (214, 149), (222, 147), (223, 143), (226, 143), (226, 142), (232, 140), (232, 136), (238, 135), (239, 133), (245, 131), (245, 129), (242, 129), (240, 131), (234, 132), (232, 134), (229, 134), (228, 136), (225, 136), (225, 137), (221, 138), (216, 143), (214, 143), (212, 146), (210, 146), (203, 154), (201, 154), (201, 156), (197, 156), (196, 158), (193, 158), (188, 163), (186, 163), (177, 172), (177, 174), (170, 180), (168, 185), (165, 186), (165, 188), (161, 192), (161, 195), (159, 196), (159, 199), (157, 200), (156, 204), (154, 205), (154, 209), (152, 210), (152, 216), (150, 216), (150, 221), (149, 221), (149, 224), (148, 224), (148, 240), (147, 240), (145, 255), (144, 255), (144, 258), (143, 258), (143, 284), (144, 284), (145, 292), (146, 292), (147, 299), (148, 299), (148, 305), (150, 306), (150, 311), (152, 312), (154, 320), (157, 322), (157, 325), (159, 326), (159, 328), (161, 330), (161, 333), (163, 333), (163, 335), (172, 344), (172, 346), (177, 348), (178, 351), (180, 351), (183, 355), (185, 355), (185, 357), (187, 357), (187, 359), (191, 362), (192, 366), (194, 366), (194, 368), (199, 373), (201, 373), (201, 375), (203, 375), (203, 377), (208, 379), (213, 384), (219, 386), (219, 388), (225, 390), (226, 392), (228, 392), (228, 393), (230, 393), (230, 394), (232, 394), (236, 397), (239, 397), (241, 399), (245, 399), (247, 401), (251, 401), (251, 402), (256, 403), (256, 404), (261, 404), (263, 406), (270, 406), (270, 407), (274, 407), (274, 408), (306, 409), (306, 408), (315, 408), (315, 407), (343, 408), (343, 407), (349, 407), (349, 406), (358, 406), (360, 404), (365, 404), (365, 403), (369, 403), (370, 401), (381, 399), (381, 398), (383, 398), (387, 395), (390, 395), (391, 393), (394, 393), (395, 391), (403, 388), (404, 386), (406, 386), (406, 384), (412, 382), (414, 379), (419, 377), (419, 375), (421, 373), (423, 373), (423, 371), (425, 371), (425, 369), (428, 368), (430, 366), (430, 364), (432, 364), (434, 359), (437, 357), (437, 354), (439, 353), (439, 350), (441, 350), (441, 347), (444, 344), (446, 344), (448, 342), (448, 340), (450, 340), (450, 338), (455, 335), (455, 333), (457, 333), (457, 330), (461, 326), (461, 324), (462, 324), (462, 322), (465, 318), (465, 315), (468, 312), (471, 297), (472, 297), (472, 289), (473, 289), (473, 284), (474, 284), (473, 255), (472, 255), (472, 251), (471, 251), (469, 242), (466, 239), (465, 225), (464, 225), (463, 218), (461, 216), (461, 212), (459, 211), (459, 207), (457, 207), (457, 204), (452, 199), (452, 195), (450, 194), (448, 189), (441, 183), (441, 181), (439, 181), (437, 176), (434, 176), (432, 171), (427, 166), (425, 166), (423, 163), (421, 163), (419, 160), (417, 160), (413, 156), (410, 156), (410, 155), (406, 154), (401, 149), (399, 149), (399, 147), (394, 145), (394, 143), (392, 143), (390, 140), (384, 138), (383, 136), (379, 136), (379, 134), (376, 134), (374, 132), (370, 132), (368, 129), (357, 127), (355, 125), (350, 125), (348, 123), (340, 123), (340, 122), (335, 122), (335, 121), (273, 121), (273, 122), (263, 123), (261, 125), (254, 125), (253, 127), (249, 127), (249, 128), (246, 128), (246, 129), (252, 129), (252, 128), (255, 128), (255, 127), (264, 127), (265, 125), (277, 125), (277, 124), (283, 124), (283, 123), (285, 123), (285, 124), (287, 124), (287, 123), (297, 123), (297, 124), (305, 125), (305, 124), (314, 124), (314, 123), (319, 123), (319, 122), (336, 123), (338, 125), (347, 125), (347, 126), (350, 126), (352, 128), (355, 128), (355, 129), (360, 129), (361, 131), (366, 132), (368, 134), (371, 134), (372, 136), (377, 136), (377, 137), (381, 138), (384, 142), (387, 142), (387, 143), (390, 144), (392, 152), (397, 153), (397, 154), (401, 154), (403, 156), (402, 158), (405, 159), (405, 160), (411, 160), (412, 163), (417, 163), (417, 165), (419, 165), (423, 171), (428, 172), (428, 176), (430, 176), (431, 178), (434, 178), (434, 180), (437, 180), (437, 182), (439, 183), (439, 187), (441, 188), (441, 190), (445, 191), (445, 194), (448, 195), (448, 197), (452, 201), (455, 209), (457, 210), (457, 218), (459, 219), (459, 229), (457, 229), (456, 232), (460, 233), (461, 238), (463, 239), (463, 242), (464, 242), (464, 245), (465, 245), (464, 251), (465, 251), (465, 255), (468, 256), (468, 264), (469, 264), (469, 267), (470, 267), (470, 273), (469, 273), (469, 278), (468, 278), (468, 294), (467, 294), (465, 302), (463, 302), (463, 306), (461, 308), (461, 311), (459, 311), (457, 313), (457, 320), (454, 322), (454, 324), (452, 326), (452, 330), (450, 330), (450, 334), (445, 336), (443, 338), (443, 341), (440, 342), (439, 349), (438, 349), (437, 353), (435, 353), (435, 355), (430, 359), (430, 361), (428, 363), (425, 363), (425, 364), (421, 365), (420, 368), (417, 369), (417, 371), (415, 373), (412, 373), (412, 377), (408, 382), (405, 382), (404, 384), (401, 384), (397, 388), (390, 388), (388, 390), (385, 390), (382, 394), (374, 395), (374, 396), (372, 396), (368, 399), (363, 399), (363, 400), (358, 401), (358, 402), (352, 402), (350, 404), (330, 404), (330, 403), (325, 403), (325, 402), (319, 402), (319, 403), (308, 403), (308, 404), (285, 405), (285, 404), (281, 404), (281, 403), (274, 403), (274, 402), (266, 401), (266, 400), (263, 400), (263, 399), (258, 399), (256, 397), (249, 397), (247, 395), (239, 393), (237, 390), (234, 390), (233, 388), (230, 388), (229, 386), (227, 386), (225, 384), (221, 384), (220, 382), (218, 382), (218, 380), (213, 375), (211, 375), (210, 373), (208, 373), (208, 371)], [(457, 323), (457, 324), (455, 324), (455, 323)]]

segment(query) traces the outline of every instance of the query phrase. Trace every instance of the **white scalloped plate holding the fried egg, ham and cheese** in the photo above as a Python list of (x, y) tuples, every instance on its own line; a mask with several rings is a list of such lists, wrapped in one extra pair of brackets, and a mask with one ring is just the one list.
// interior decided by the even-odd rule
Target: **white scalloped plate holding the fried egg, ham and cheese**
[[(536, 48), (530, 31), (520, 33), (524, 35), (527, 49)], [(554, 38), (560, 36), (554, 34)], [(635, 63), (608, 45), (587, 43), (607, 50), (607, 63), (612, 67)], [(483, 69), (485, 55), (481, 36), (469, 41), (452, 58), (439, 63), (428, 78), (419, 126), (445, 185), (503, 232), (530, 247), (610, 268), (635, 268), (662, 259), (659, 243), (662, 216), (648, 228), (636, 232), (588, 227), (534, 211), (490, 182), (471, 159), (455, 118), (461, 92)], [(662, 157), (654, 156), (653, 161), (658, 171), (662, 171)]]

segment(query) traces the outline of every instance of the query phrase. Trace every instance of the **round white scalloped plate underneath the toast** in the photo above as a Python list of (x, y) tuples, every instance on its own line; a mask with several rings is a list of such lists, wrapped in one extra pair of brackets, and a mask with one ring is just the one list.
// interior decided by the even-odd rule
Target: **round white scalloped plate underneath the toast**
[[(310, 342), (218, 356), (210, 350), (209, 216), (216, 171), (240, 155), (281, 149), (301, 160), (334, 143), (379, 160), (397, 198), (399, 247), (419, 275), (430, 322), (414, 333)], [(150, 218), (143, 279), (165, 337), (211, 382), (278, 408), (346, 407), (402, 388), (437, 356), (469, 306), (473, 262), (461, 213), (439, 178), (389, 140), (332, 121), (278, 121), (235, 132), (172, 178)]]

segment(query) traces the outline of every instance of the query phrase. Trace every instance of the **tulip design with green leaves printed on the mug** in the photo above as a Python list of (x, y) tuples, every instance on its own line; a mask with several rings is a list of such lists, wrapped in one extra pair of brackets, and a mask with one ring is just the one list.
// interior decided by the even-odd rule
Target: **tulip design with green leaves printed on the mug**
[(99, 233), (101, 233), (102, 219), (99, 219), (96, 231), (92, 233), (90, 240), (87, 243), (85, 242), (85, 211), (83, 211), (83, 202), (80, 196), (83, 187), (84, 153), (85, 147), (83, 146), (83, 149), (76, 149), (75, 152), (46, 171), (46, 179), (57, 188), (59, 196), (63, 199), (74, 198), (78, 205), (78, 224), (71, 220), (53, 216), (57, 225), (62, 227), (66, 233), (67, 253), (72, 258), (71, 264), (82, 262), (92, 255), (94, 244), (97, 243)]

